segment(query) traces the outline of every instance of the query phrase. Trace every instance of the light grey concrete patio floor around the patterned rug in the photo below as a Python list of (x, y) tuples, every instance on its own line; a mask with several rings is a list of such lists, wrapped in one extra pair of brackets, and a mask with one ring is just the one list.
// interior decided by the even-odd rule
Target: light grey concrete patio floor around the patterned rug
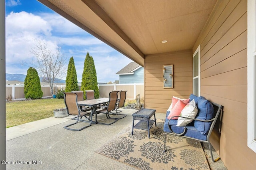
[[(137, 110), (120, 110), (127, 115), (124, 119), (109, 126), (92, 124), (91, 127), (81, 131), (63, 128), (74, 122), (70, 120), (73, 116), (50, 117), (6, 128), (6, 161), (14, 163), (6, 165), (6, 169), (135, 170), (136, 168), (95, 152), (122, 129), (132, 125), (132, 113)], [(156, 113), (156, 119), (165, 119), (165, 114)], [(77, 126), (79, 128), (83, 125), (84, 123), (78, 123)], [(207, 155), (210, 155), (207, 145), (204, 150)], [(217, 157), (218, 155), (214, 152), (214, 158)], [(207, 159), (212, 170), (226, 169), (221, 160), (213, 163), (211, 158)], [(16, 164), (16, 161), (20, 164)], [(26, 164), (29, 161), (34, 164)]]

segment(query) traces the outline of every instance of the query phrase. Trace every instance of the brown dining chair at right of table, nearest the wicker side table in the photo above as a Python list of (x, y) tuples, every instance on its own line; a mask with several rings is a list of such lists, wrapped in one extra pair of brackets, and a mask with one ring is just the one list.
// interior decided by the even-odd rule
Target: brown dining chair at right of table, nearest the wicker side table
[(118, 93), (118, 91), (111, 91), (109, 93), (109, 102), (108, 102), (108, 104), (106, 106), (100, 106), (100, 108), (102, 108), (102, 110), (97, 111), (97, 114), (98, 113), (104, 113), (104, 114), (106, 114), (107, 119), (114, 119), (115, 121), (113, 121), (109, 124), (106, 124), (106, 123), (100, 123), (100, 124), (111, 125), (111, 124), (115, 123), (116, 121), (118, 121), (118, 118), (112, 118), (109, 115), (110, 111), (114, 111), (115, 108), (116, 108), (117, 93)]

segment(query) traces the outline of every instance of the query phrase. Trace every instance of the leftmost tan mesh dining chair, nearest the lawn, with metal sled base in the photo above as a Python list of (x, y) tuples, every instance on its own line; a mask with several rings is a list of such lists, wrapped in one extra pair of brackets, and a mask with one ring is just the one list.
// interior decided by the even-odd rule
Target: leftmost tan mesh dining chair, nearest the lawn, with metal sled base
[[(87, 112), (83, 112), (82, 109), (80, 109), (80, 107), (78, 106), (78, 104), (77, 104), (78, 95), (76, 93), (70, 93), (70, 92), (63, 92), (63, 93), (64, 93), (64, 103), (66, 105), (68, 115), (76, 116), (76, 123), (78, 123), (78, 121), (90, 123), (89, 121), (79, 120), (79, 117), (85, 116), (87, 114)], [(88, 118), (86, 117), (86, 119), (88, 119)], [(80, 130), (90, 126), (90, 125), (88, 125), (88, 126), (80, 128), (80, 129), (69, 128), (70, 126), (75, 125), (76, 123), (67, 125), (64, 128), (66, 128), (68, 130), (80, 131)]]

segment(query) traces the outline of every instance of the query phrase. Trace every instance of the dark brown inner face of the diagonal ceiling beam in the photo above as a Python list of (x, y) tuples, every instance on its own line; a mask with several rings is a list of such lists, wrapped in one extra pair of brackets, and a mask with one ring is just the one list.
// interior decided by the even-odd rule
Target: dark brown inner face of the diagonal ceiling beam
[(108, 14), (98, 5), (95, 0), (82, 0), (98, 17), (100, 17), (118, 36), (120, 36), (126, 43), (128, 43), (142, 58), (145, 59), (144, 54), (140, 49), (130, 40), (130, 38), (122, 31), (122, 29), (108, 16)]

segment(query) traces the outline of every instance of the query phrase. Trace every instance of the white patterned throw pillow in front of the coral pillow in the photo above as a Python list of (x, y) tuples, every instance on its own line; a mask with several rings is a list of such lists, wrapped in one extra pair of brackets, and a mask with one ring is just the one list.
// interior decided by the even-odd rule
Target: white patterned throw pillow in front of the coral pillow
[[(188, 105), (186, 105), (184, 107), (184, 109), (182, 109), (180, 116), (188, 117), (188, 118), (195, 118), (197, 112), (198, 112), (198, 110), (196, 107), (196, 103), (195, 103), (195, 100), (193, 99), (192, 101), (190, 101), (188, 103)], [(178, 127), (184, 127), (193, 121), (192, 119), (186, 119), (186, 118), (182, 118), (182, 117), (178, 118), (178, 122), (177, 122)]]

